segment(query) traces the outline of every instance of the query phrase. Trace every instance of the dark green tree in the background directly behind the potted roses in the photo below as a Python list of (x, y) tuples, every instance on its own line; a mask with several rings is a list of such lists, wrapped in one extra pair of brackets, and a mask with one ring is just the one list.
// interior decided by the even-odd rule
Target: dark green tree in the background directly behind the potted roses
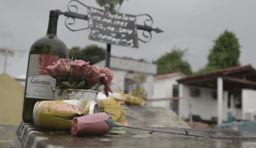
[(105, 59), (105, 50), (97, 45), (88, 45), (83, 49), (79, 47), (73, 47), (70, 50), (69, 58), (72, 59), (82, 59), (85, 62), (90, 62), (90, 65), (97, 63)]

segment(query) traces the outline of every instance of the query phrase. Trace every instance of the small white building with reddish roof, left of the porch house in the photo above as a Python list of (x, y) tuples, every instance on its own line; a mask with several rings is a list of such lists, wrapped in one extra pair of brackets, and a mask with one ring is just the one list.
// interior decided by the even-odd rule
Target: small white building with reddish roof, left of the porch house
[(174, 72), (154, 76), (154, 93), (152, 99), (148, 99), (148, 106), (160, 106), (173, 110), (179, 114), (179, 84), (177, 79), (186, 77), (182, 72)]

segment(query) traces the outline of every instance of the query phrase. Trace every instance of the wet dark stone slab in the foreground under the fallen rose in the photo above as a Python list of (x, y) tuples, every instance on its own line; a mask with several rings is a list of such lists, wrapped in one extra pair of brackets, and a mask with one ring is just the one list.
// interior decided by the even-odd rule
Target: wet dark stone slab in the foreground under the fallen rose
[[(144, 127), (151, 130), (185, 134), (184, 128)], [(149, 131), (128, 129), (131, 133), (146, 134)], [(70, 131), (37, 129), (22, 123), (17, 137), (23, 148), (255, 148), (256, 133), (217, 129), (189, 129), (189, 135), (153, 132), (151, 138), (133, 138), (131, 134), (106, 135), (104, 137), (72, 136)], [(6, 132), (6, 131), (5, 131)], [(12, 138), (15, 138), (14, 136)], [(6, 145), (5, 145), (6, 146)]]

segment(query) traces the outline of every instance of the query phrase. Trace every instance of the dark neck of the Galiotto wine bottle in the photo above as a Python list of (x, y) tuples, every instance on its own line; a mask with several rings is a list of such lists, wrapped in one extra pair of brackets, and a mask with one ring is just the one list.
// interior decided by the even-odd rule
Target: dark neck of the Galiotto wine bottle
[(48, 29), (46, 34), (57, 36), (58, 15), (59, 13), (57, 11), (50, 11)]

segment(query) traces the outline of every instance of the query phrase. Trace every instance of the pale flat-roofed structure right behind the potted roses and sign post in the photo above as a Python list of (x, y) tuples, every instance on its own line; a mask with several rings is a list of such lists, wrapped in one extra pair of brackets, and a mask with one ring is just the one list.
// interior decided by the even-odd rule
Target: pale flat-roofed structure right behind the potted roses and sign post
[[(105, 68), (105, 60), (94, 65), (98, 68)], [(112, 82), (115, 85), (111, 85), (114, 92), (120, 89), (122, 93), (131, 93), (136, 85), (140, 84), (147, 98), (152, 98), (153, 78), (157, 73), (156, 64), (110, 57), (110, 70), (114, 73)]]

